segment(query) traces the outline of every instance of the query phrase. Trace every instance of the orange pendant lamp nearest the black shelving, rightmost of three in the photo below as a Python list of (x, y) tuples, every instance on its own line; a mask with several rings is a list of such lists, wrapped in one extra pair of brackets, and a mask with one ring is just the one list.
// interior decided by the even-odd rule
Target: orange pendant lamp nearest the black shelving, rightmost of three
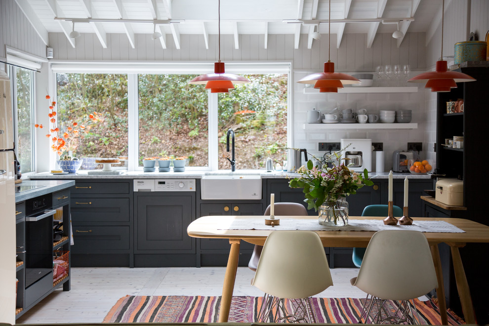
[(436, 62), (435, 71), (414, 76), (408, 82), (426, 82), (425, 88), (431, 88), (432, 92), (449, 92), (451, 88), (457, 87), (457, 82), (474, 82), (475, 78), (467, 74), (448, 71), (447, 61), (443, 60), (443, 16), (445, 11), (445, 0), (442, 1), (442, 52), (440, 60)]

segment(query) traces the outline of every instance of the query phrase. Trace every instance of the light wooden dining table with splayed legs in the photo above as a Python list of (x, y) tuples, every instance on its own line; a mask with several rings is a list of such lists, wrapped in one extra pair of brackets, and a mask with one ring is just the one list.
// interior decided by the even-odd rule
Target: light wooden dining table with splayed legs
[[(276, 216), (281, 219), (317, 219), (315, 216)], [(372, 220), (372, 219), (384, 219), (384, 217), (371, 217), (371, 216), (350, 216), (350, 220)], [(243, 224), (246, 219), (251, 222), (259, 220), (263, 221), (265, 230), (233, 230), (230, 229), (230, 224), (233, 220), (238, 220)], [(458, 227), (465, 231), (464, 233), (446, 233), (446, 232), (425, 232), (424, 235), (428, 240), (431, 247), (431, 253), (433, 255), (433, 262), (435, 264), (436, 275), (438, 279), (437, 296), (440, 308), (440, 315), (443, 325), (448, 325), (447, 320), (447, 305), (445, 302), (445, 290), (443, 287), (443, 274), (440, 261), (440, 253), (438, 251), (438, 244), (445, 243), (450, 246), (451, 256), (453, 262), (453, 269), (455, 272), (455, 280), (457, 284), (458, 293), (460, 296), (460, 302), (462, 305), (462, 311), (467, 324), (475, 324), (474, 309), (472, 305), (472, 298), (470, 296), (470, 290), (465, 276), (465, 271), (462, 265), (460, 257), (459, 247), (465, 246), (467, 243), (489, 243), (489, 226), (460, 218), (421, 218), (413, 217), (414, 224), (416, 220), (429, 220), (429, 221), (446, 221), (453, 226)], [(229, 229), (228, 229), (229, 228)], [(260, 227), (261, 229), (261, 227)], [(275, 228), (276, 229), (276, 228)], [(236, 280), (236, 272), (238, 269), (238, 259), (240, 253), (240, 241), (251, 244), (263, 245), (268, 235), (274, 231), (271, 226), (265, 227), (263, 216), (203, 216), (193, 221), (187, 228), (189, 236), (194, 238), (211, 238), (211, 239), (229, 239), (231, 248), (229, 251), (228, 263), (226, 266), (226, 273), (224, 276), (224, 284), (222, 288), (221, 307), (219, 314), (219, 322), (227, 322), (229, 317), (229, 310), (231, 307), (231, 299), (233, 296), (234, 284)], [(375, 232), (372, 231), (317, 231), (321, 238), (321, 241), (325, 247), (367, 247), (368, 242), (372, 238)]]

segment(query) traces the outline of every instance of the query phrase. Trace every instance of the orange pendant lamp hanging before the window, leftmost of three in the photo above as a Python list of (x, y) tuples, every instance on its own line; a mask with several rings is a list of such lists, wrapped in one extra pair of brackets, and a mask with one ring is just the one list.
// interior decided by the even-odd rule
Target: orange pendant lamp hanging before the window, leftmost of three
[(224, 62), (221, 62), (221, 0), (218, 1), (218, 33), (219, 33), (219, 61), (214, 62), (214, 73), (197, 76), (189, 84), (205, 84), (211, 93), (227, 93), (234, 84), (250, 82), (246, 78), (229, 74), (224, 71)]

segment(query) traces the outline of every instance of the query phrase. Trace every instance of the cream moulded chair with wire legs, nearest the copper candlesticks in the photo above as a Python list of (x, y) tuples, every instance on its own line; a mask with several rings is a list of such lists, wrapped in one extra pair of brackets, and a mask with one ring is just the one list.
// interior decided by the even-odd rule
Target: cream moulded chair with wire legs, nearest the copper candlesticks
[[(367, 292), (367, 299), (371, 297), (360, 315), (362, 319), (365, 314), (365, 323), (371, 317), (372, 324), (419, 324), (413, 299), (438, 287), (426, 237), (418, 231), (376, 232), (368, 243), (358, 277), (350, 282)], [(387, 300), (401, 301), (394, 314), (384, 308)], [(377, 313), (370, 316), (374, 306)]]

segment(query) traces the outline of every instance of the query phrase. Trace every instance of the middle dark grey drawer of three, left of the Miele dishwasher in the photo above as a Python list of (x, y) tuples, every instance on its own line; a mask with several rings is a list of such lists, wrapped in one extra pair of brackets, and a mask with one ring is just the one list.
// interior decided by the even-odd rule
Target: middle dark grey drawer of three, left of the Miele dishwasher
[(73, 222), (129, 222), (128, 198), (72, 198)]

